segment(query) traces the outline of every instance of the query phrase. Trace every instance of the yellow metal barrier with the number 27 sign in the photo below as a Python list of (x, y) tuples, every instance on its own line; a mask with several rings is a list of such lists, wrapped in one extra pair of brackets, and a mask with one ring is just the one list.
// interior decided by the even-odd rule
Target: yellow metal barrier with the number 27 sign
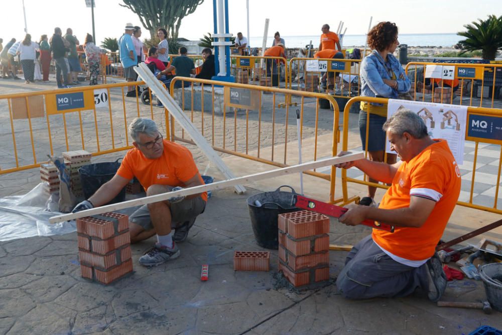
[(410, 62), (405, 71), (414, 100), (494, 108), (502, 99), (502, 64)]

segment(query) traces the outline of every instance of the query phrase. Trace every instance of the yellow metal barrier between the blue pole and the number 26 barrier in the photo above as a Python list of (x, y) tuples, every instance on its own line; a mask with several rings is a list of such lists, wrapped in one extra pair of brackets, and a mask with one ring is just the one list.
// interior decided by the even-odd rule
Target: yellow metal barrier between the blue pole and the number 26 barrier
[[(288, 88), (288, 62), (284, 57), (230, 56), (230, 62), (230, 73), (237, 83), (281, 87), (281, 82), (284, 81), (284, 87)], [(284, 64), (284, 70), (282, 64)], [(282, 72), (284, 72), (284, 78), (282, 78)]]

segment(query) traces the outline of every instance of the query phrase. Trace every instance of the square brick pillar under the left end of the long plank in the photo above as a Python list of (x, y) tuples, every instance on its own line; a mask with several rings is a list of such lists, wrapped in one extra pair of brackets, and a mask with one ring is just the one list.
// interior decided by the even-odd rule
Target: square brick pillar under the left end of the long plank
[(129, 217), (103, 213), (77, 219), (82, 277), (109, 284), (133, 272)]

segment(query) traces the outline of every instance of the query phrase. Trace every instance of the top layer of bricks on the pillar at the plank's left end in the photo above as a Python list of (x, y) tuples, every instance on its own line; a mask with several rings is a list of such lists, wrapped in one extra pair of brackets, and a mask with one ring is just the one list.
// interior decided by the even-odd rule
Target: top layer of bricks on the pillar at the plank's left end
[[(103, 217), (117, 219), (118, 224), (111, 219), (108, 220)], [(106, 240), (117, 233), (127, 230), (128, 228), (129, 217), (125, 214), (109, 212), (77, 219), (77, 233), (90, 237), (96, 237), (102, 240)]]

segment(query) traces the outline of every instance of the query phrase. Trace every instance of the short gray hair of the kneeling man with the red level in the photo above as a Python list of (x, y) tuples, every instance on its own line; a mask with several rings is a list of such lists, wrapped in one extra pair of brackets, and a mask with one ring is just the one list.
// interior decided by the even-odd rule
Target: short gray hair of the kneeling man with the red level
[(402, 110), (394, 114), (382, 127), (385, 132), (388, 130), (398, 136), (408, 133), (416, 139), (422, 139), (427, 134), (427, 126), (424, 120), (413, 111)]

